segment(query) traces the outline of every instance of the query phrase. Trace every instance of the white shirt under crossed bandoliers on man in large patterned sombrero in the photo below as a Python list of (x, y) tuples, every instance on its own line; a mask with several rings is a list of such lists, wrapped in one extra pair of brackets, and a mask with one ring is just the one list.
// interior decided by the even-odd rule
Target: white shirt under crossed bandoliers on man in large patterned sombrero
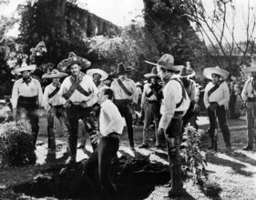
[[(65, 78), (63, 81), (60, 90), (59, 95), (63, 96), (67, 93), (68, 89), (71, 87), (72, 83), (70, 81), (70, 75)], [(87, 92), (91, 92), (91, 95), (86, 96), (81, 94), (78, 90), (75, 90), (75, 92), (70, 96), (69, 100), (72, 102), (82, 102), (86, 101), (87, 106), (94, 105), (97, 103), (97, 86), (94, 84), (92, 78), (89, 75), (84, 75), (83, 80), (81, 81), (80, 85), (83, 87), (84, 90)], [(67, 100), (63, 98), (63, 104), (65, 104)]]

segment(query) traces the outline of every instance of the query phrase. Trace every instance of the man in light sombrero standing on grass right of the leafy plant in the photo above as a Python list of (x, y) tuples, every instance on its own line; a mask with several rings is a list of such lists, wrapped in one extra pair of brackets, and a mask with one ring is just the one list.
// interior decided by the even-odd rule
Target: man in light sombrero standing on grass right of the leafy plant
[[(229, 75), (226, 70), (220, 69), (219, 66), (208, 67), (204, 69), (203, 74), (212, 82), (205, 87), (203, 102), (207, 108), (210, 128), (208, 134), (210, 135), (210, 147), (214, 147), (214, 133), (216, 131), (216, 117), (218, 117), (220, 130), (222, 132), (226, 148), (230, 150), (230, 130), (226, 122), (225, 104), (230, 100), (229, 86), (225, 82)], [(216, 115), (215, 115), (216, 113)]]

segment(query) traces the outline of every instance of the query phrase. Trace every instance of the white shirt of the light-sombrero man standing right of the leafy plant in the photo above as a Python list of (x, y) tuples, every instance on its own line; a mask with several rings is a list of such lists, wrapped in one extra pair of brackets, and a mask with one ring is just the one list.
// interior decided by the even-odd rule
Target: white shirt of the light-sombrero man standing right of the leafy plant
[(203, 102), (206, 108), (210, 106), (210, 102), (217, 102), (219, 105), (226, 105), (230, 101), (230, 90), (226, 82), (220, 84), (219, 88), (209, 96), (208, 92), (214, 86), (215, 85), (210, 82), (205, 87)]

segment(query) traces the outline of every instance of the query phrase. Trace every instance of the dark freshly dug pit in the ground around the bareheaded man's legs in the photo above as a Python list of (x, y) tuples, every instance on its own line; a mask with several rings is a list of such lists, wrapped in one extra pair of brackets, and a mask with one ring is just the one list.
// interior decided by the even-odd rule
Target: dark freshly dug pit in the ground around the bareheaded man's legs
[[(33, 181), (15, 185), (14, 192), (34, 197), (103, 199), (97, 170), (94, 175), (87, 175), (85, 162), (47, 168)], [(156, 185), (169, 182), (169, 167), (150, 163), (149, 159), (122, 156), (113, 161), (111, 178), (118, 188), (119, 199), (144, 199)]]

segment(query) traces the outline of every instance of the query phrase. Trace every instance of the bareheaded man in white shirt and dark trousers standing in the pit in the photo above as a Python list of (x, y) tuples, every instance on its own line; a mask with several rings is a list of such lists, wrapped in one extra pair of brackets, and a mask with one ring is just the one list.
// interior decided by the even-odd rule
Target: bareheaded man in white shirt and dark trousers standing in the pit
[(93, 142), (98, 143), (96, 151), (90, 155), (85, 165), (85, 172), (93, 175), (95, 165), (98, 165), (99, 183), (106, 199), (117, 199), (115, 185), (109, 179), (111, 160), (117, 156), (119, 137), (123, 132), (122, 116), (118, 107), (110, 99), (113, 91), (109, 87), (99, 92), (98, 103), (101, 105), (99, 115), (99, 132), (92, 135)]

